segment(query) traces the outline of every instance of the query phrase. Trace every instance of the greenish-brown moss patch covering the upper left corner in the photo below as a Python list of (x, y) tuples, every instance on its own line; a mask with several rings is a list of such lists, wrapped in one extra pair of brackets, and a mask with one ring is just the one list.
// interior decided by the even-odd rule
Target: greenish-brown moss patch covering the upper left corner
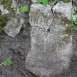
[(6, 26), (7, 21), (16, 15), (14, 8), (12, 7), (12, 0), (0, 0), (0, 5), (3, 5), (4, 9), (9, 11), (8, 14), (2, 14), (0, 10), (0, 33)]

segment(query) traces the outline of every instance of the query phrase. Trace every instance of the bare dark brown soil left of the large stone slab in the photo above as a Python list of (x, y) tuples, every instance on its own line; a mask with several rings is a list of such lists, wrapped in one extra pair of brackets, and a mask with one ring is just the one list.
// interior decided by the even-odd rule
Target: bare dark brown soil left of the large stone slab
[(36, 77), (25, 69), (25, 55), (29, 48), (30, 35), (24, 35), (23, 29), (15, 38), (0, 34), (0, 63), (10, 55), (14, 60), (14, 65), (10, 67), (0, 66), (0, 77)]

